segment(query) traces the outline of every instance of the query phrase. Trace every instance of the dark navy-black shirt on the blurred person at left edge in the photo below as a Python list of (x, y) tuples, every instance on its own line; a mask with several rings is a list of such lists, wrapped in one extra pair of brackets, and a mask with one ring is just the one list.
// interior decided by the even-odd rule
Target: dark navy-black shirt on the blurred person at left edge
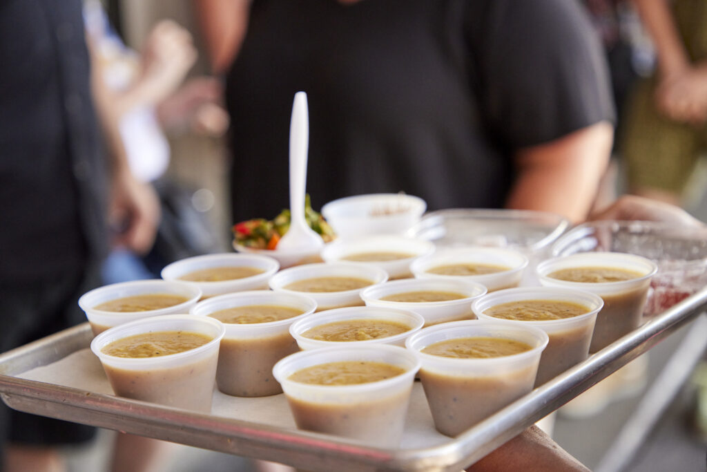
[(107, 243), (81, 6), (0, 2), (0, 282), (74, 274)]

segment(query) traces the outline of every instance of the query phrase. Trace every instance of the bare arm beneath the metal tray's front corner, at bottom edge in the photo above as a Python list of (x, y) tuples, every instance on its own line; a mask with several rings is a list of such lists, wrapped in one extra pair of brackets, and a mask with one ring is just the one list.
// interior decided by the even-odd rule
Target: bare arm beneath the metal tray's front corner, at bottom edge
[(468, 472), (588, 472), (580, 461), (559, 447), (539, 427), (531, 426), (491, 452)]

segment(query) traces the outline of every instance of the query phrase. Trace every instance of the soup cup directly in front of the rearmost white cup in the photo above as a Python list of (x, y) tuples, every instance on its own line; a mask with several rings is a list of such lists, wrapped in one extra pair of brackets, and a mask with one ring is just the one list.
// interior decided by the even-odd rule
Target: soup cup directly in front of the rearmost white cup
[(334, 241), (322, 250), (327, 263), (351, 262), (373, 265), (390, 280), (412, 277), (410, 264), (435, 251), (434, 243), (402, 236), (373, 236), (356, 241)]

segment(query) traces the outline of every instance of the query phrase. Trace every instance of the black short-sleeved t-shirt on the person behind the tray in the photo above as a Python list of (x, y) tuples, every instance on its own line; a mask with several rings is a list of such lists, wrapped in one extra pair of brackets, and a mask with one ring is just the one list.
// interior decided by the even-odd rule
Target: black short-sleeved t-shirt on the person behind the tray
[(227, 78), (234, 221), (289, 205), (293, 96), (308, 93), (308, 193), (404, 191), (501, 207), (516, 149), (613, 120), (574, 0), (255, 0)]

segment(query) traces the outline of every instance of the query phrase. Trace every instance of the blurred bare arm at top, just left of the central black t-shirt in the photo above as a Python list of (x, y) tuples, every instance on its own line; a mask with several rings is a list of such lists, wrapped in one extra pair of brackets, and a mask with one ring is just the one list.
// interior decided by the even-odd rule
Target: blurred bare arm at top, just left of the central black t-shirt
[(193, 0), (214, 74), (223, 74), (238, 54), (248, 25), (250, 0)]

